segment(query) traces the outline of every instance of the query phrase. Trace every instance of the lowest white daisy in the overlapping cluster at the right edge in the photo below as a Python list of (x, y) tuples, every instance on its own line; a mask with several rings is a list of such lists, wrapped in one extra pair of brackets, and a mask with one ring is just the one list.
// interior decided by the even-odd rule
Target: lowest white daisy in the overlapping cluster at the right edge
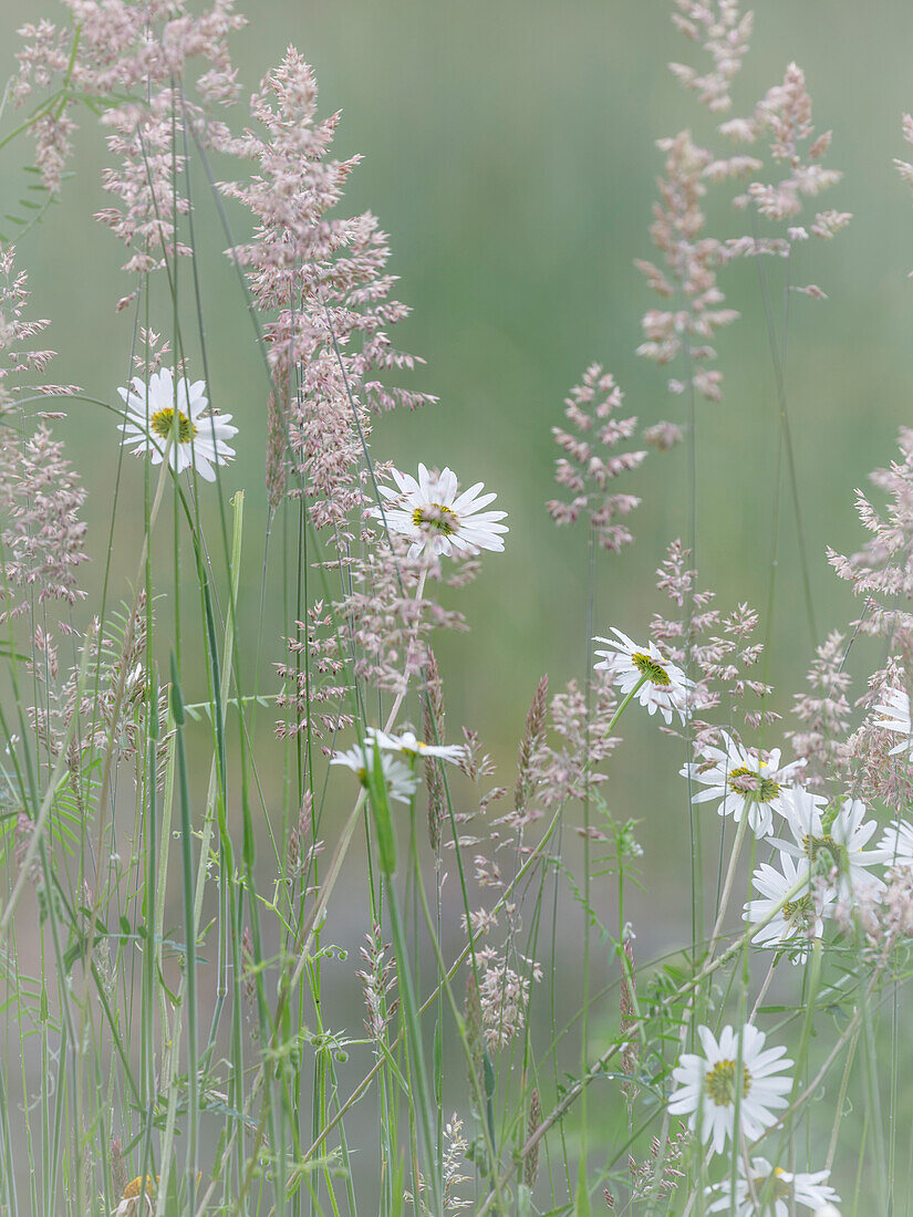
[[(794, 964), (799, 964), (808, 955), (812, 938), (820, 938), (824, 932), (823, 919), (830, 912), (834, 893), (822, 891), (820, 886), (813, 882), (807, 862), (796, 864), (788, 853), (779, 854), (779, 860), (782, 871), (767, 863), (762, 863), (755, 871), (752, 876), (755, 891), (763, 898), (747, 902), (744, 920), (756, 925), (782, 904), (779, 912), (751, 941), (758, 947), (797, 947), (791, 958)], [(789, 899), (784, 903), (785, 897)]]

